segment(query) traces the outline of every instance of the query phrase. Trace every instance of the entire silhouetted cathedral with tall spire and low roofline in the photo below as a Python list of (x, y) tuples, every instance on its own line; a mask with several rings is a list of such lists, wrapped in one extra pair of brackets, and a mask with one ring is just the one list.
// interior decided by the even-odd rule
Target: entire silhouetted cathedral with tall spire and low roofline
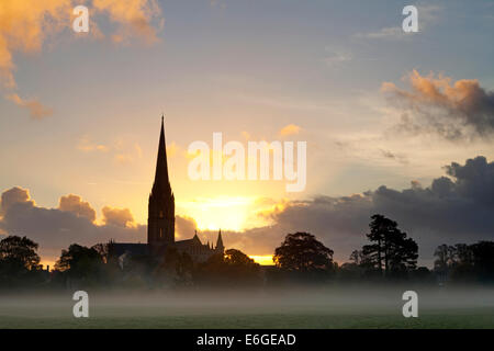
[(223, 253), (222, 233), (218, 231), (216, 246), (202, 244), (198, 234), (188, 240), (175, 240), (175, 195), (168, 177), (167, 149), (165, 143), (165, 123), (161, 117), (158, 159), (155, 182), (149, 194), (147, 218), (147, 244), (126, 244), (111, 241), (109, 253), (123, 258), (132, 256), (151, 256), (164, 258), (170, 248), (188, 253), (194, 262), (204, 262), (211, 256)]

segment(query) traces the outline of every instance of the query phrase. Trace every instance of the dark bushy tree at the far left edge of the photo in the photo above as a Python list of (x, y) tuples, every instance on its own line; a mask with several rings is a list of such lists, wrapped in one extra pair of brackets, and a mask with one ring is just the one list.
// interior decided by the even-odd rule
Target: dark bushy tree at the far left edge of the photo
[(0, 264), (11, 273), (40, 269), (37, 244), (26, 237), (8, 236), (0, 241)]

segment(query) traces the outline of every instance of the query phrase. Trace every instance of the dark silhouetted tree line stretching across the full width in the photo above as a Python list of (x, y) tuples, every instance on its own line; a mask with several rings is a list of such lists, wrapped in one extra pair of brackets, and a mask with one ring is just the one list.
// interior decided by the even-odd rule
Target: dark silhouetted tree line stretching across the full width
[(168, 249), (164, 259), (134, 256), (123, 262), (112, 256), (109, 244), (61, 250), (54, 270), (43, 270), (38, 245), (26, 237), (8, 236), (0, 241), (0, 288), (46, 287), (247, 287), (284, 282), (395, 282), (414, 280), (427, 284), (494, 283), (494, 242), (440, 245), (434, 268), (417, 267), (418, 246), (396, 222), (371, 217), (368, 244), (353, 250), (340, 265), (334, 251), (308, 233), (288, 234), (274, 249), (273, 267), (261, 267), (244, 252), (229, 249), (202, 263), (184, 252)]

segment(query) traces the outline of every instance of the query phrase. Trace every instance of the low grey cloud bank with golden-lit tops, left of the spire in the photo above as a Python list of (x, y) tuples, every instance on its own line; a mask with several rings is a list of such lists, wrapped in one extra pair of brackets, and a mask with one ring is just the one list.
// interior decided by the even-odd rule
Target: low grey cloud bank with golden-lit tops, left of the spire
[[(74, 242), (92, 246), (110, 239), (120, 242), (144, 242), (146, 238), (146, 226), (134, 224), (128, 210), (115, 212), (111, 208), (106, 213), (110, 217), (106, 218), (109, 224), (97, 225), (89, 211), (91, 205), (85, 205), (77, 195), (61, 197), (70, 200), (60, 199), (60, 204), (71, 204), (70, 208), (66, 207), (67, 204), (61, 205), (70, 211), (37, 206), (31, 200), (29, 190), (18, 186), (4, 191), (1, 199), (0, 231), (30, 237), (40, 244), (40, 253), (45, 259), (56, 259), (63, 248)], [(80, 203), (79, 208), (75, 206), (77, 200)], [(123, 225), (124, 220), (126, 226)]]

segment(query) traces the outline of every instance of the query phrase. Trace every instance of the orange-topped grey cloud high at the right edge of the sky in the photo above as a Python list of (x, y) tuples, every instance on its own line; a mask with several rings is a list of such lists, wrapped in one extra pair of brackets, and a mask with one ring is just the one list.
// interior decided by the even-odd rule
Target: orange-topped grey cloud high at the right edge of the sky
[(424, 77), (413, 70), (405, 81), (409, 90), (392, 82), (381, 87), (390, 103), (403, 113), (398, 131), (433, 132), (449, 140), (494, 135), (494, 92), (482, 88), (476, 79), (453, 82), (442, 75)]

